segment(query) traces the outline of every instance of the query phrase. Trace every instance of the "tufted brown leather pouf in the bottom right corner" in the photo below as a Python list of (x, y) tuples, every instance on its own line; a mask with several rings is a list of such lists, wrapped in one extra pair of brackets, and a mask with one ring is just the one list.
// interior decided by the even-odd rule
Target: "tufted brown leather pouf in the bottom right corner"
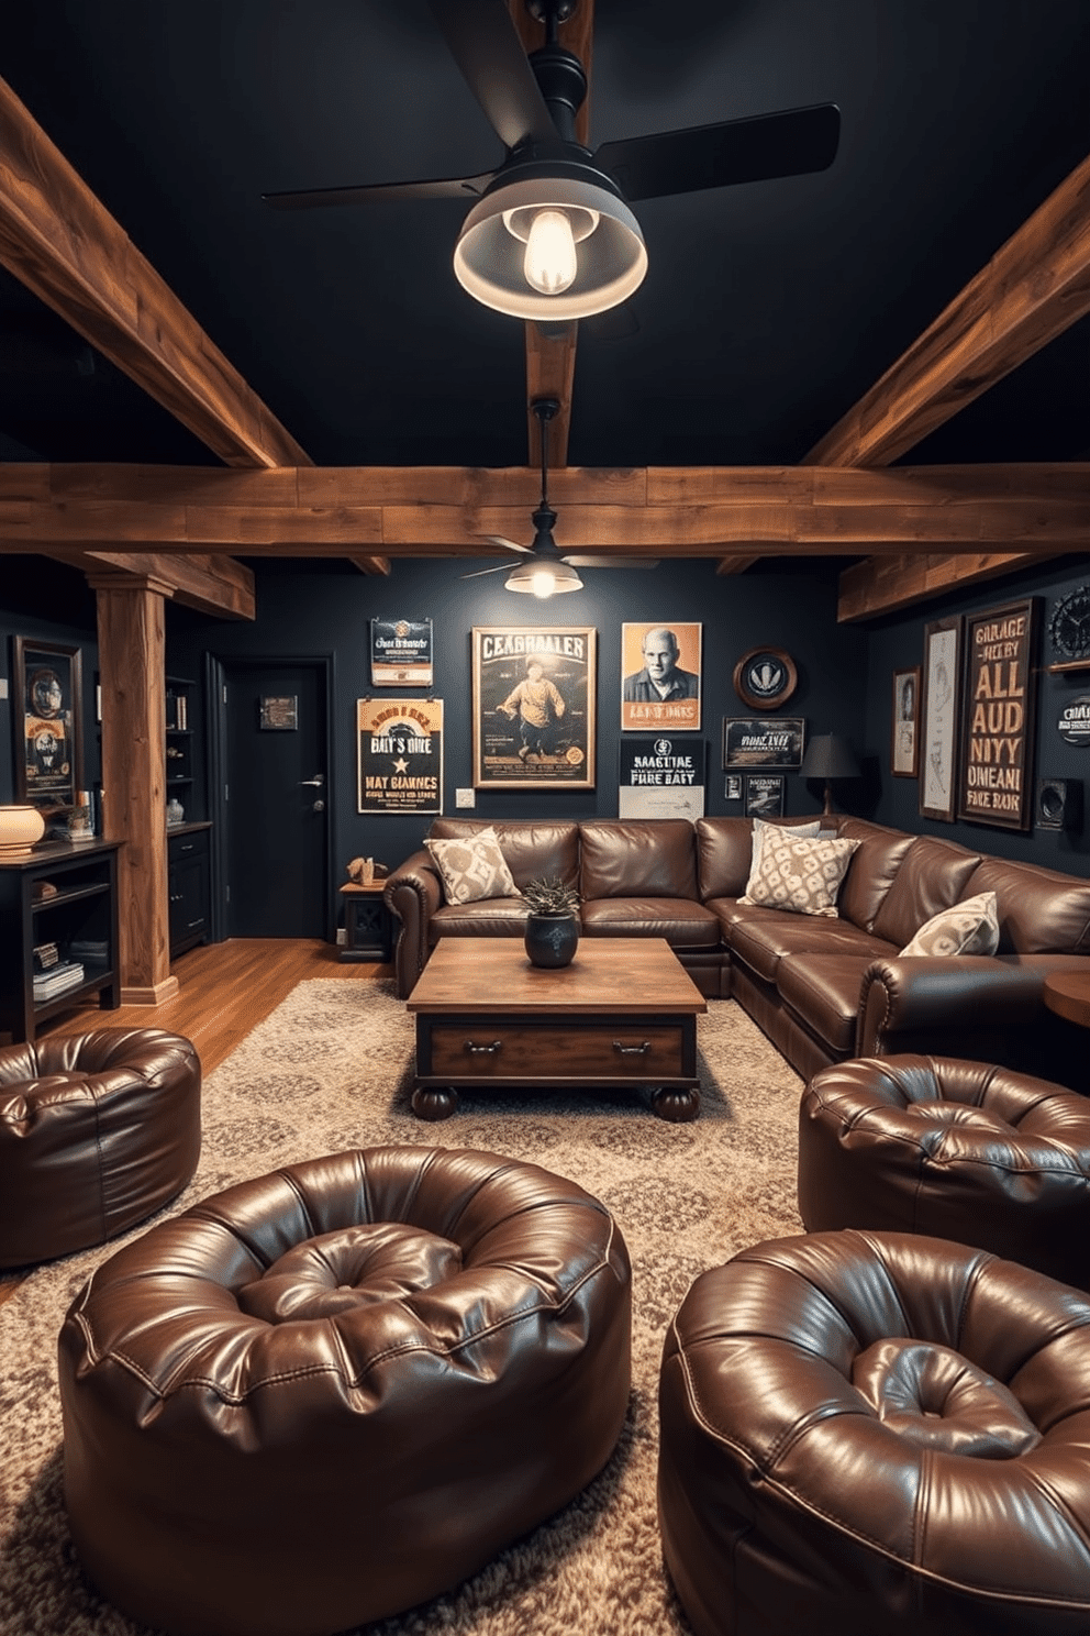
[(1085, 1636), (1090, 1301), (914, 1234), (780, 1238), (667, 1337), (659, 1517), (696, 1636)]

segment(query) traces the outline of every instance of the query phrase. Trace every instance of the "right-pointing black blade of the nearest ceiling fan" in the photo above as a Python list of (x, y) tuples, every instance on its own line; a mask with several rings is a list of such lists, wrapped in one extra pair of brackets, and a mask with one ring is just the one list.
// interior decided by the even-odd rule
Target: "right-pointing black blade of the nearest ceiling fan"
[(595, 164), (616, 178), (628, 200), (652, 200), (825, 170), (838, 142), (840, 108), (819, 103), (603, 142)]

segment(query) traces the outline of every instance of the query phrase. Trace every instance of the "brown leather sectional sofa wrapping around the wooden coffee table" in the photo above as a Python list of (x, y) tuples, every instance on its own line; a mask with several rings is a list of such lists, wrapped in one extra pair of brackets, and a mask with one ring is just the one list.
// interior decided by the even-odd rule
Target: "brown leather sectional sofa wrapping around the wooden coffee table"
[[(490, 828), (516, 885), (541, 875), (570, 882), (585, 937), (665, 937), (701, 993), (737, 1000), (804, 1078), (848, 1057), (935, 1052), (1082, 1088), (1072, 1073), (1085, 1036), (1048, 1011), (1043, 987), (1049, 970), (1090, 972), (1090, 880), (840, 813), (822, 825), (860, 841), (835, 919), (739, 903), (752, 859), (748, 818), (497, 820)], [(438, 818), (430, 834), (482, 828), (482, 820)], [(899, 957), (927, 919), (981, 892), (998, 900), (995, 955)], [(400, 921), (402, 998), (440, 937), (523, 936), (521, 898), (444, 903), (423, 849), (391, 875), (386, 901)]]

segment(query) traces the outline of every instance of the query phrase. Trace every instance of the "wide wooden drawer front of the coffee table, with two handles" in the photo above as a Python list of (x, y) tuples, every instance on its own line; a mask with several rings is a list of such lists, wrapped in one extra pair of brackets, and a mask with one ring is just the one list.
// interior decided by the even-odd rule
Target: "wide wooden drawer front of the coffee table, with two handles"
[(431, 1027), (430, 1073), (451, 1078), (593, 1075), (610, 1080), (678, 1078), (685, 1073), (681, 1026), (556, 1027), (440, 1022)]

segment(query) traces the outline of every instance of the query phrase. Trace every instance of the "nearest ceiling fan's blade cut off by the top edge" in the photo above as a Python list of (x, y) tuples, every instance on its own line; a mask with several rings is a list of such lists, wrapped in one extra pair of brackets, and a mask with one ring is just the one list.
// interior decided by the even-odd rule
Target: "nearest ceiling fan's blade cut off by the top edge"
[(428, 0), (454, 62), (505, 147), (559, 133), (505, 0)]

